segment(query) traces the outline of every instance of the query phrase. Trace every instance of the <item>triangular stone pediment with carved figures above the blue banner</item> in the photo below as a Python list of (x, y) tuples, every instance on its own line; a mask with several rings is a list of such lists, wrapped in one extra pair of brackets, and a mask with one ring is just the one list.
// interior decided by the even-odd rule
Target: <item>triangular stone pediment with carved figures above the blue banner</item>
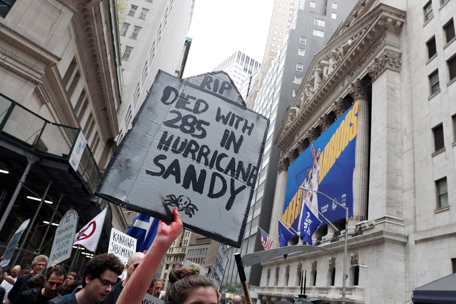
[[(399, 33), (404, 20), (404, 11), (379, 4), (318, 52), (303, 78), (305, 81), (299, 86), (296, 97), (290, 104), (290, 110), (284, 119), (286, 123), (280, 126), (274, 144), (283, 149), (308, 121), (315, 109), (327, 99), (328, 93), (335, 90), (346, 75), (352, 78), (378, 51), (386, 40), (386, 31)], [(349, 48), (345, 50), (344, 47), (347, 46)], [(340, 56), (340, 53), (343, 56)], [(320, 79), (321, 85), (316, 85), (316, 77), (312, 74), (318, 74), (318, 68), (321, 68), (318, 64), (326, 59), (327, 66), (328, 56), (334, 58), (337, 55), (339, 60), (336, 65), (330, 62), (332, 72), (326, 70), (329, 75), (323, 74), (326, 78)], [(313, 86), (309, 84), (312, 81)], [(312, 87), (314, 92), (311, 92)]]

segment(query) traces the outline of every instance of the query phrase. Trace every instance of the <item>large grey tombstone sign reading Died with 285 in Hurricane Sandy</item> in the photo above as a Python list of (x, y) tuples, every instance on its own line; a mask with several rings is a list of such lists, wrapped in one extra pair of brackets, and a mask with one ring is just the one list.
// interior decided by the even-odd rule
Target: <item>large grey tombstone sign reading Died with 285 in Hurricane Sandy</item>
[(268, 128), (225, 72), (159, 71), (96, 194), (240, 247)]

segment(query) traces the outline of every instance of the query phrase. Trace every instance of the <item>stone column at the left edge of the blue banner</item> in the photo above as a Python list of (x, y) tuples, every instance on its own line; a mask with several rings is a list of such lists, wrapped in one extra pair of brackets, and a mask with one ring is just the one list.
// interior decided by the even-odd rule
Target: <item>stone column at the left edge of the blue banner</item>
[[(269, 235), (277, 242), (279, 242), (279, 218), (274, 215), (274, 212), (277, 212), (279, 216), (282, 216), (285, 201), (286, 181), (288, 177), (288, 165), (288, 160), (283, 158), (279, 160), (279, 165), (277, 166), (279, 173), (277, 174), (277, 181), (275, 182), (274, 203), (272, 206), (271, 222), (269, 224)], [(279, 245), (273, 242), (271, 248), (277, 247), (279, 247)]]

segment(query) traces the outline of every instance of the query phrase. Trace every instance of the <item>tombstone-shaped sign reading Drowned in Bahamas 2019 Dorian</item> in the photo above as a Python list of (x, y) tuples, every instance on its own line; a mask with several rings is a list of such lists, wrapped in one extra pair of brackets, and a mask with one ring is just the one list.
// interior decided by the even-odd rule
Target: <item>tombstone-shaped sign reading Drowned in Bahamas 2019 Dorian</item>
[(74, 237), (78, 228), (78, 218), (78, 213), (70, 209), (58, 223), (46, 268), (51, 267), (55, 261), (63, 262), (71, 257)]

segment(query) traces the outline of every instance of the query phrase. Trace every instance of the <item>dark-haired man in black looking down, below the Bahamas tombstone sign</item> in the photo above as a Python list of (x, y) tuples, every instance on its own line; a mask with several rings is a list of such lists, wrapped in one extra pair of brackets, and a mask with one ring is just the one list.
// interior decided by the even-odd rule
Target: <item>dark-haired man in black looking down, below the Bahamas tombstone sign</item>
[(51, 268), (46, 274), (44, 288), (29, 289), (23, 291), (21, 296), (16, 300), (17, 304), (46, 304), (47, 301), (54, 298), (63, 285), (67, 272), (63, 267), (57, 266)]

